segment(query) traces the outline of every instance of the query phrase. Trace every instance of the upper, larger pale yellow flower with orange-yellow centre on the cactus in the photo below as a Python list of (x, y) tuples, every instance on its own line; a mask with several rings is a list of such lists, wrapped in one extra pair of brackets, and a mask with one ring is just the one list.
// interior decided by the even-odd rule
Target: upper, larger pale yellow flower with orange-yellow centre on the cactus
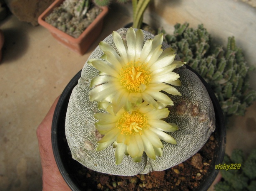
[(112, 37), (116, 49), (100, 42), (102, 59), (88, 61), (100, 71), (90, 83), (94, 87), (89, 93), (90, 100), (112, 103), (114, 113), (123, 107), (129, 111), (133, 103), (138, 105), (142, 100), (154, 108), (158, 108), (158, 103), (173, 105), (171, 98), (160, 91), (181, 95), (171, 86), (181, 85), (180, 76), (172, 71), (186, 63), (174, 60), (173, 49), (161, 49), (163, 34), (145, 44), (141, 29), (128, 29), (125, 39), (118, 32), (113, 32)]

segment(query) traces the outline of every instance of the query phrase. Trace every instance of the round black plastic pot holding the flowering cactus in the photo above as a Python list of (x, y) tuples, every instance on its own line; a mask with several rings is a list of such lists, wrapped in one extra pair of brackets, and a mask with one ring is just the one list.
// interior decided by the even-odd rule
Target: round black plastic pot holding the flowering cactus
[[(191, 71), (196, 73), (193, 69), (191, 69), (191, 67), (186, 67), (187, 69), (190, 69)], [(214, 179), (218, 174), (218, 170), (215, 169), (215, 164), (220, 164), (223, 161), (226, 147), (226, 128), (224, 125), (225, 122), (223, 118), (223, 113), (214, 92), (209, 87), (209, 85), (203, 80), (203, 78), (201, 78), (201, 76), (199, 76), (198, 73), (196, 74), (201, 79), (202, 83), (205, 85), (211, 97), (216, 116), (216, 130), (213, 133), (215, 133), (217, 147), (214, 151), (215, 153), (212, 160), (213, 162), (208, 170), (208, 173), (203, 176), (200, 185), (197, 187), (198, 191), (206, 191), (211, 186), (211, 184), (213, 183)], [(74, 191), (80, 191), (85, 189), (84, 185), (81, 184), (80, 179), (85, 180), (86, 176), (74, 172), (74, 169), (85, 167), (83, 167), (82, 164), (75, 161), (71, 157), (68, 143), (65, 137), (65, 116), (71, 92), (73, 88), (77, 85), (80, 76), (81, 71), (79, 71), (65, 87), (55, 108), (52, 123), (53, 154), (58, 165), (58, 168), (60, 170), (60, 173), (67, 182), (68, 186), (70, 186), (70, 188)], [(88, 182), (87, 184), (90, 184), (90, 182)]]

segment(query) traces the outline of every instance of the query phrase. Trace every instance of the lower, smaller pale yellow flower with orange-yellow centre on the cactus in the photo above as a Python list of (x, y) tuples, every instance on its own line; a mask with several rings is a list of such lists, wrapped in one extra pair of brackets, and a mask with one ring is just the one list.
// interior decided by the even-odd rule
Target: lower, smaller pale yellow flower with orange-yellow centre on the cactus
[[(141, 162), (143, 152), (151, 159), (162, 155), (161, 140), (176, 144), (176, 140), (165, 132), (178, 130), (177, 125), (167, 123), (163, 118), (169, 115), (168, 108), (154, 108), (143, 102), (133, 105), (131, 111), (121, 108), (116, 114), (110, 103), (99, 102), (99, 108), (108, 113), (96, 113), (96, 129), (104, 135), (98, 142), (101, 151), (114, 143), (115, 162), (120, 164), (124, 154), (129, 154), (134, 162)], [(163, 132), (165, 131), (165, 132)]]

